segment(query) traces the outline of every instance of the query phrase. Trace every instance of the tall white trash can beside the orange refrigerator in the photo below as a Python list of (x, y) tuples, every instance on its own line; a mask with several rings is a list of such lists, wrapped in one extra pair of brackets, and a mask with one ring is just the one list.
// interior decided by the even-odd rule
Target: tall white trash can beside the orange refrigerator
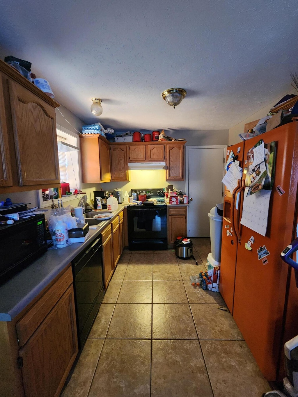
[(211, 208), (210, 218), (210, 241), (211, 255), (216, 262), (221, 262), (221, 233), (223, 230), (223, 204), (216, 204)]

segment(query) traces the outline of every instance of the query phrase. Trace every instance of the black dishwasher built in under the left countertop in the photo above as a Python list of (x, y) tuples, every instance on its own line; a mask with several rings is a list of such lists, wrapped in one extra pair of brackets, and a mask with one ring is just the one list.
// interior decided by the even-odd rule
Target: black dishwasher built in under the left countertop
[(103, 301), (101, 237), (72, 262), (79, 348), (82, 349)]

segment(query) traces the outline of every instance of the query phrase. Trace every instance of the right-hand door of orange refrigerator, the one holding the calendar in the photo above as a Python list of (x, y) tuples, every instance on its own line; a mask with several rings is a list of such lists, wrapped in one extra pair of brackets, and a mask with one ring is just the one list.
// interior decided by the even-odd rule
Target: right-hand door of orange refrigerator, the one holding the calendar
[[(283, 350), (289, 268), (281, 260), (280, 253), (294, 236), (298, 183), (297, 125), (286, 124), (252, 138), (246, 141), (244, 148), (245, 162), (246, 153), (260, 138), (265, 143), (276, 141), (275, 177), (266, 236), (240, 225), (233, 310), (233, 317), (268, 380), (277, 379), (278, 362)], [(285, 193), (280, 195), (277, 186)], [(252, 236), (254, 242), (249, 251), (245, 243)], [(263, 246), (268, 254), (265, 258), (259, 258), (257, 250)], [(291, 312), (289, 307), (288, 310)], [(294, 332), (291, 337), (294, 337), (298, 330), (298, 316), (293, 317), (289, 324)]]

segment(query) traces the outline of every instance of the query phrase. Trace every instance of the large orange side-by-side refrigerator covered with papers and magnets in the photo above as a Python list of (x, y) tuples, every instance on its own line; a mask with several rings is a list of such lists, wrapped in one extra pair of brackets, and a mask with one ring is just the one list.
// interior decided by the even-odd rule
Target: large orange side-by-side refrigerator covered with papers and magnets
[[(275, 175), (265, 236), (240, 224), (250, 161), (247, 154), (260, 139), (265, 144), (275, 142)], [(243, 144), (242, 180), (232, 194), (224, 197), (220, 291), (265, 378), (281, 380), (284, 342), (298, 334), (294, 271), (280, 258), (296, 237), (298, 123), (288, 123), (234, 146)], [(253, 211), (258, 210), (256, 206)], [(232, 235), (226, 233), (228, 224), (232, 225)], [(260, 258), (262, 252), (266, 256)]]

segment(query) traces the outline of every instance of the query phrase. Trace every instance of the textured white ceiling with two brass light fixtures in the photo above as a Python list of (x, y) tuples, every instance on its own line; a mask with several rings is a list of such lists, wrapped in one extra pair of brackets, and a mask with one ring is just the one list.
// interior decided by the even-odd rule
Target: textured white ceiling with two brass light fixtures
[[(295, 2), (0, 0), (1, 54), (32, 62), (85, 123), (228, 129), (291, 89)], [(174, 110), (161, 93), (187, 96)], [(91, 114), (91, 98), (103, 114)]]

